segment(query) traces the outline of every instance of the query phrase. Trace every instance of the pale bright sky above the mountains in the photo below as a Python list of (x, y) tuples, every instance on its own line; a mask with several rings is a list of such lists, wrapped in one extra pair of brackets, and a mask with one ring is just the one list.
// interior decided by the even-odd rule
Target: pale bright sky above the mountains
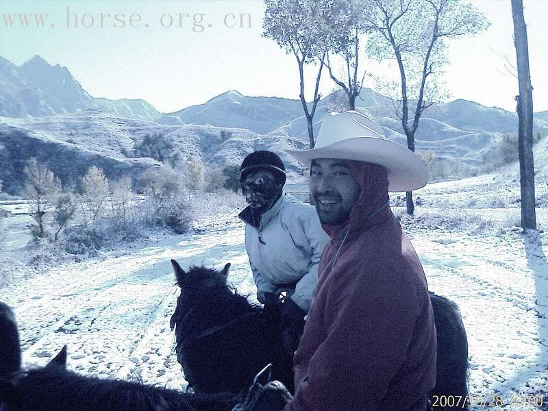
[[(517, 79), (504, 67), (504, 56), (515, 62), (510, 0), (471, 2), (487, 14), (491, 26), (451, 43), (446, 87), (451, 99), (514, 111)], [(548, 0), (523, 3), (537, 112), (548, 110)], [(45, 27), (16, 27), (18, 21), (5, 27), (3, 14), (8, 13), (48, 16)], [(105, 27), (99, 27), (101, 13)], [(240, 13), (249, 15), (244, 27), (238, 27)], [(0, 55), (19, 65), (38, 54), (50, 64), (66, 66), (93, 97), (145, 99), (162, 112), (204, 103), (227, 90), (298, 99), (295, 58), (261, 37), (263, 13), (262, 0), (1, 0)], [(130, 23), (132, 14), (139, 16)], [(193, 29), (200, 14), (203, 22)], [(76, 17), (79, 27), (74, 27)], [(122, 23), (125, 27), (114, 27)], [(310, 96), (315, 72), (308, 73)], [(323, 94), (333, 89), (325, 75)]]

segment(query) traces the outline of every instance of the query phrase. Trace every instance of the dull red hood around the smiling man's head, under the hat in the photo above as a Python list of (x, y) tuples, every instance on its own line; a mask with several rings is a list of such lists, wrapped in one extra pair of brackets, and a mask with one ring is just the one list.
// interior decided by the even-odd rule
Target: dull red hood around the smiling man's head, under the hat
[[(343, 232), (349, 236), (360, 233), (382, 221), (392, 213), (388, 203), (388, 172), (383, 166), (361, 161), (350, 161), (350, 172), (362, 189), (347, 221), (338, 225), (322, 224), (333, 239)], [(343, 234), (344, 235), (344, 234)]]

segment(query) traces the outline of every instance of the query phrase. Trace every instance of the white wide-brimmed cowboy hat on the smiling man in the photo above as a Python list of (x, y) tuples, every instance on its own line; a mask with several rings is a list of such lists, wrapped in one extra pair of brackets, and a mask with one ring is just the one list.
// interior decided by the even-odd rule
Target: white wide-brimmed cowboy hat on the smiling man
[(327, 114), (313, 149), (285, 151), (309, 168), (316, 158), (379, 164), (388, 170), (388, 191), (416, 190), (428, 180), (427, 166), (418, 155), (384, 138), (377, 123), (356, 111)]

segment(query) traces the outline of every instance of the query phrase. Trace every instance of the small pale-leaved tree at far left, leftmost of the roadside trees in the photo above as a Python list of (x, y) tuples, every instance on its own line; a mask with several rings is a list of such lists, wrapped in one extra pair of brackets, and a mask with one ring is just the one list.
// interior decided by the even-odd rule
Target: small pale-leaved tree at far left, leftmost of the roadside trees
[(27, 162), (25, 175), (25, 195), (32, 201), (32, 216), (36, 221), (33, 234), (38, 238), (45, 238), (46, 213), (53, 208), (53, 202), (61, 190), (61, 183), (58, 177), (55, 177), (46, 166), (38, 163), (34, 157)]

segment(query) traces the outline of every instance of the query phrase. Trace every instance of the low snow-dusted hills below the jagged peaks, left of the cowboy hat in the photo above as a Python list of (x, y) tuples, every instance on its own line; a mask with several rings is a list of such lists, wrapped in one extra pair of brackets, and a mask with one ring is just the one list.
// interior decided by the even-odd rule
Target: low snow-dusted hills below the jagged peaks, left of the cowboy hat
[(20, 192), (25, 162), (31, 157), (46, 164), (64, 184), (76, 184), (92, 165), (101, 167), (109, 179), (124, 175), (136, 178), (146, 168), (160, 165), (151, 158), (131, 158), (135, 143), (147, 134), (172, 138), (183, 160), (198, 155), (206, 163), (224, 166), (240, 164), (251, 151), (273, 149), (286, 162), (290, 179), (299, 178), (302, 173), (302, 166), (279, 150), (282, 140), (284, 145), (303, 147), (294, 138), (262, 136), (226, 127), (160, 125), (86, 110), (30, 119), (0, 118), (3, 190), (10, 194)]

